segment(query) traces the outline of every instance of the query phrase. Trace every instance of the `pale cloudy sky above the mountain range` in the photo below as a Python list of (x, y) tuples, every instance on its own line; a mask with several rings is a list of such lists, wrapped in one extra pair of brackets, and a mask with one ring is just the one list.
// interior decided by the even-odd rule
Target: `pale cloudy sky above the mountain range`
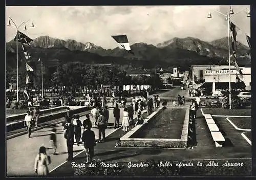
[[(232, 6), (234, 13), (250, 6)], [(130, 44), (153, 44), (174, 37), (195, 37), (212, 41), (228, 35), (225, 16), (230, 6), (7, 6), (6, 22), (11, 17), (16, 25), (27, 21), (27, 31), (20, 31), (34, 39), (50, 36), (63, 40), (92, 42), (104, 49), (117, 47), (111, 35), (126, 34)], [(211, 12), (212, 18), (207, 18)], [(248, 10), (231, 17), (240, 28), (237, 40), (247, 46), (245, 34), (250, 36)], [(30, 28), (31, 22), (35, 27)], [(6, 42), (15, 37), (16, 30), (6, 26)]]

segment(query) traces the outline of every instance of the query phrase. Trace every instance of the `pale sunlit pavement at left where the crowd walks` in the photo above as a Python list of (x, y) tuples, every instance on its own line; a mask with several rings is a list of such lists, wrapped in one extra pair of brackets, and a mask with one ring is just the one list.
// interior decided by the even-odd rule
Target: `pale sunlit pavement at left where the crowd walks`
[[(121, 116), (122, 113), (123, 108), (120, 108)], [(109, 109), (109, 114), (109, 123), (114, 123), (113, 108)], [(80, 117), (81, 122), (84, 119), (86, 119), (85, 116)], [(50, 133), (52, 128), (57, 128), (57, 155), (53, 155), (53, 149), (50, 149)], [(93, 128), (92, 130), (95, 132), (96, 139), (98, 139), (98, 129)], [(105, 131), (106, 136), (115, 130), (113, 126), (108, 126), (108, 129)], [(48, 148), (47, 153), (51, 156), (52, 163), (49, 165), (49, 171), (66, 161), (68, 157), (67, 145), (66, 139), (63, 138), (61, 124), (34, 131), (30, 139), (27, 137), (28, 135), (24, 134), (7, 140), (7, 175), (35, 175), (34, 159), (40, 146)], [(83, 144), (80, 146), (74, 145), (74, 155), (82, 152), (83, 149)]]

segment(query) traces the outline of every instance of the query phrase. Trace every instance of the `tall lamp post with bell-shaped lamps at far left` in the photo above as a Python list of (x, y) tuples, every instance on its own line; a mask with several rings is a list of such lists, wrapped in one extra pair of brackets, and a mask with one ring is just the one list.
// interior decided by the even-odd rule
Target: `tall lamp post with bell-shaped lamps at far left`
[[(16, 87), (17, 87), (17, 101), (18, 101), (18, 30), (19, 30), (19, 28), (20, 28), (22, 25), (25, 25), (25, 26), (24, 26), (24, 31), (26, 31), (26, 30), (27, 30), (26, 23), (27, 23), (28, 21), (30, 21), (30, 20), (24, 21), (24, 22), (22, 22), (22, 24), (20, 24), (19, 26), (16, 26), (16, 24), (15, 24), (15, 22), (12, 20), (12, 18), (9, 17), (7, 26), (11, 26), (10, 20), (12, 21), (12, 24), (14, 25), (14, 26), (12, 26), (12, 27), (14, 27), (15, 30), (16, 30), (16, 60), (17, 60), (17, 62), (16, 62), (16, 63), (17, 63), (17, 67), (16, 67), (17, 85), (16, 85)], [(33, 23), (33, 22), (32, 22), (31, 28), (34, 28), (34, 23)]]

